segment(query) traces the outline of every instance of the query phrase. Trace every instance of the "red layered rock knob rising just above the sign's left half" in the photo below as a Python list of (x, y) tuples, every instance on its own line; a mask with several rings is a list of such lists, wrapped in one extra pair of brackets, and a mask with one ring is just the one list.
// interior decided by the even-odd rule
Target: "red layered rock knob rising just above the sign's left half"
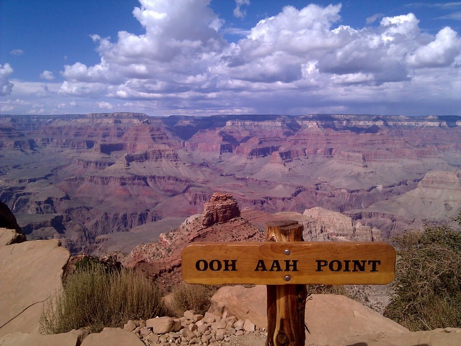
[(215, 192), (211, 199), (205, 203), (202, 226), (209, 227), (237, 216), (240, 216), (240, 210), (234, 197), (230, 193)]

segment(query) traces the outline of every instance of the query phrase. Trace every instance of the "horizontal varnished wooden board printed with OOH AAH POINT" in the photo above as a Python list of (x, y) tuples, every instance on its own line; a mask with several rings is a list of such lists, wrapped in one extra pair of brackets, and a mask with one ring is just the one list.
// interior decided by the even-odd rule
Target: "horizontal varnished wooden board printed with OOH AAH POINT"
[(385, 284), (394, 272), (384, 242), (196, 242), (182, 251), (188, 283)]

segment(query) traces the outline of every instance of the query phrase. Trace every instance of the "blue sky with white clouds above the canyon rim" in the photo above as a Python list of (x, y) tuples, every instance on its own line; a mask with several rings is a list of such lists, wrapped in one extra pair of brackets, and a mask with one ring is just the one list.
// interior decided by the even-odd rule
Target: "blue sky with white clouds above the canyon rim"
[(461, 2), (0, 0), (0, 114), (461, 115)]

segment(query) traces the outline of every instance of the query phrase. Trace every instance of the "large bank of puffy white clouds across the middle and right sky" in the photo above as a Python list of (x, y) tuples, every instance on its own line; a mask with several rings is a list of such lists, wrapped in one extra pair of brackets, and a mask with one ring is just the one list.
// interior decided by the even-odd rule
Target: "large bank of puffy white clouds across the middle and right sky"
[[(342, 109), (371, 100), (407, 101), (412, 90), (430, 94), (427, 83), (434, 75), (447, 76), (444, 83), (431, 79), (440, 88), (457, 83), (450, 75), (461, 64), (458, 34), (448, 27), (436, 35), (422, 33), (413, 13), (376, 14), (367, 22), (382, 17), (379, 25), (352, 28), (340, 24), (341, 5), (285, 6), (228, 43), (222, 19), (208, 5), (207, 0), (140, 0), (133, 15), (144, 32), (120, 31), (114, 40), (92, 35), (100, 62), (66, 65), (58, 94), (119, 98), (158, 112), (286, 113), (323, 110), (326, 103)], [(236, 2), (240, 12), (247, 5)], [(106, 103), (97, 105), (111, 105)]]

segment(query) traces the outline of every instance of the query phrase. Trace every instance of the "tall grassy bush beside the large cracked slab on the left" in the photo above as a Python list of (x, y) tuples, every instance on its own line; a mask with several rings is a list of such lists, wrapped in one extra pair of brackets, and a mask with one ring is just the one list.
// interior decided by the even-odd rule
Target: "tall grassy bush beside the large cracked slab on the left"
[(129, 319), (147, 319), (163, 313), (160, 292), (139, 271), (108, 272), (85, 266), (70, 274), (61, 291), (45, 305), (40, 333), (56, 334), (90, 327), (121, 327)]

